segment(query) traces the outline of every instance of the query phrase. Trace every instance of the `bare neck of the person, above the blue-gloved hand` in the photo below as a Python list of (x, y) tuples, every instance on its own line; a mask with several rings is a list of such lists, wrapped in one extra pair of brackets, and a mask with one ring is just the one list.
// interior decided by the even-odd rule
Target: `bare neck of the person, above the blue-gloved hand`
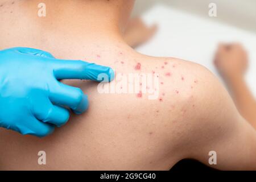
[[(36, 24), (42, 36), (63, 36), (75, 41), (122, 40), (133, 1), (123, 0), (44, 0), (46, 17), (39, 17), (41, 1), (24, 1), (26, 14)], [(77, 36), (79, 35), (79, 36)]]

